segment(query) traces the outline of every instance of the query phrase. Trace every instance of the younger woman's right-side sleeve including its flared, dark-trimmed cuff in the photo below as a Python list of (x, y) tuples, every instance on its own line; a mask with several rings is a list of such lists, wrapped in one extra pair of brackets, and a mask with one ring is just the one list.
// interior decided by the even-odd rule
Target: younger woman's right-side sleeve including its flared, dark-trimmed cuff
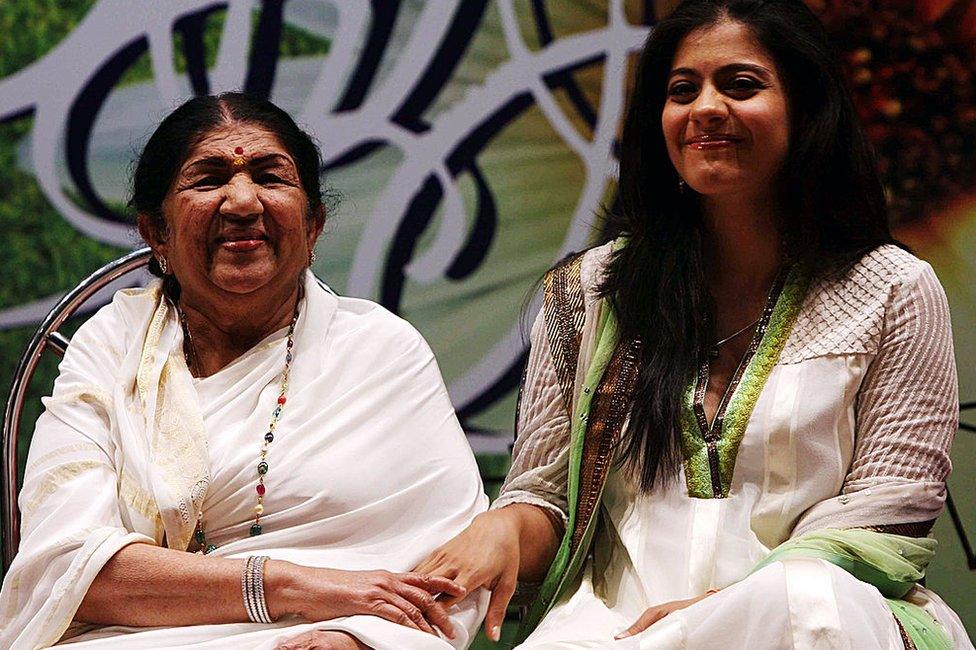
[(869, 528), (921, 537), (942, 512), (959, 422), (952, 328), (932, 268), (912, 267), (891, 290), (856, 396), (854, 455), (841, 493), (804, 513), (793, 536)]

